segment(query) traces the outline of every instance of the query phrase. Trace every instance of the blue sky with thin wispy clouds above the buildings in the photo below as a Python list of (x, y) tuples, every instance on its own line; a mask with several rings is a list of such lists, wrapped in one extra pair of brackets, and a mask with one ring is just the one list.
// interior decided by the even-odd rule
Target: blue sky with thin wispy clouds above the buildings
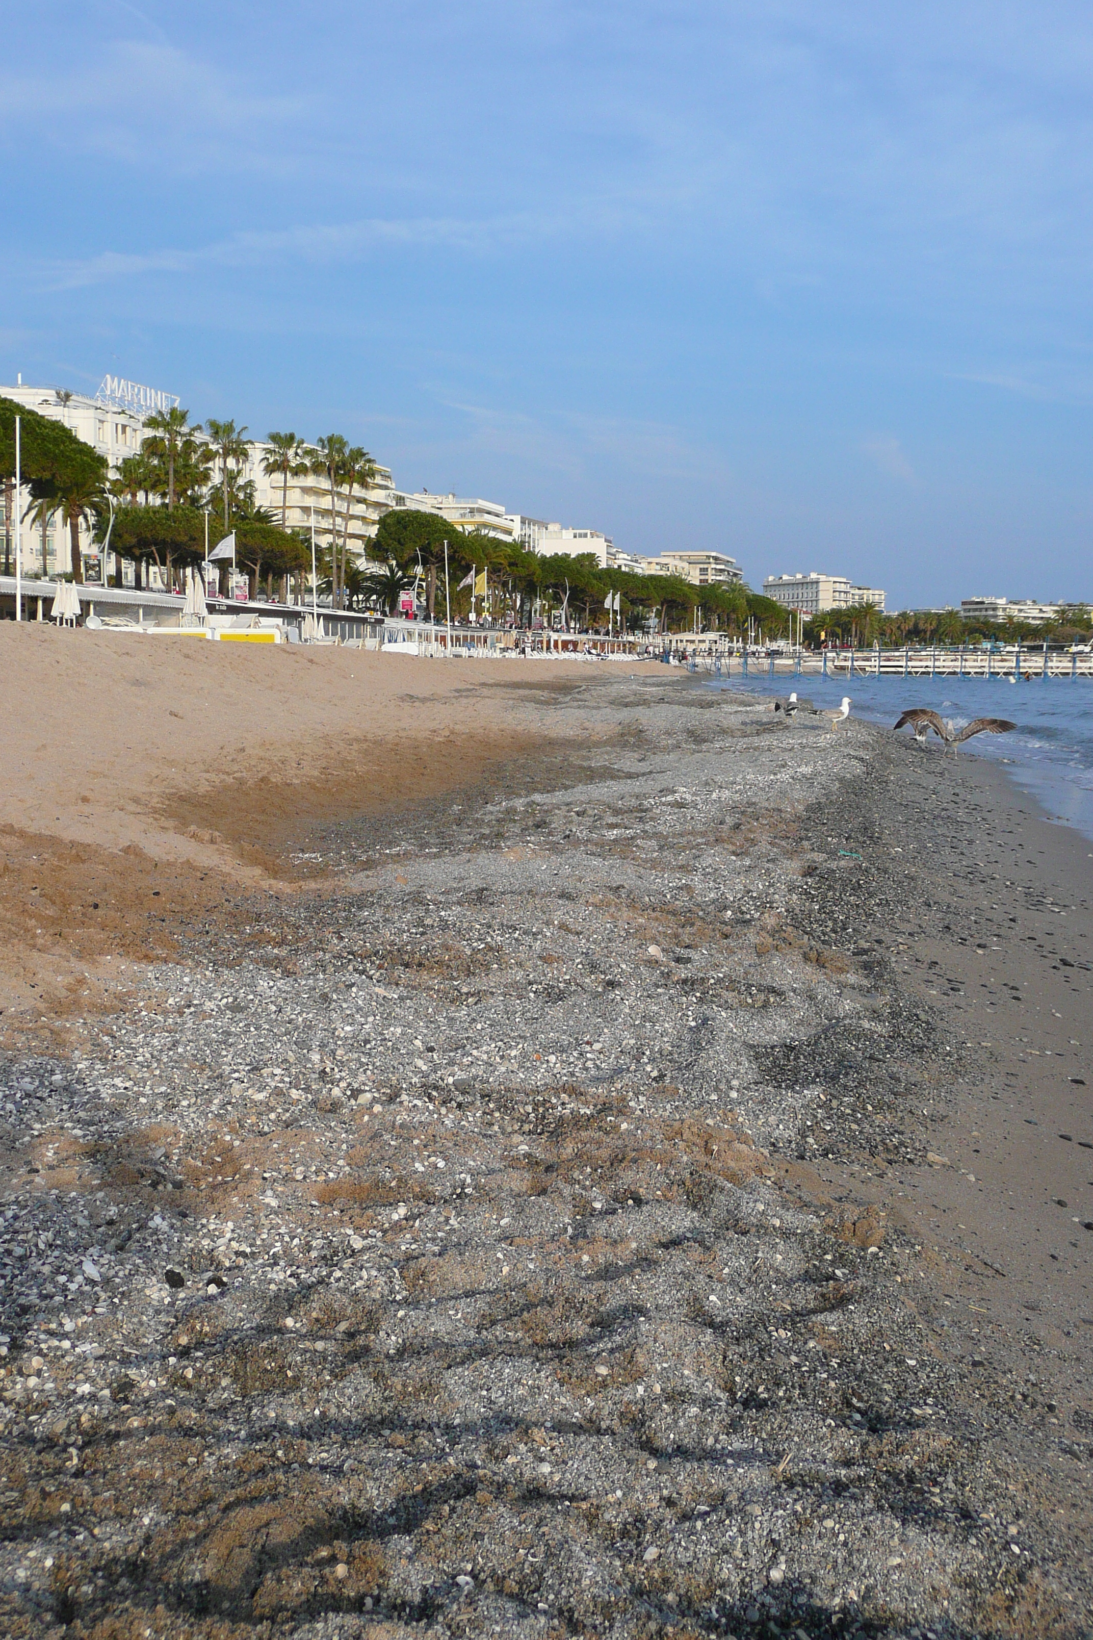
[(0, 380), (754, 587), (1093, 600), (1091, 90), (1070, 0), (34, 0)]

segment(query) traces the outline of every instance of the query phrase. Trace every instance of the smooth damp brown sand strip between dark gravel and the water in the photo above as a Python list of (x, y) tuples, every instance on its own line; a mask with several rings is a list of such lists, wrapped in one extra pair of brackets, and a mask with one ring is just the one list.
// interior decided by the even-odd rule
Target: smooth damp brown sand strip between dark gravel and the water
[(1065, 1440), (1093, 1369), (1093, 845), (985, 759), (906, 763), (909, 812), (878, 841), (913, 864), (923, 925), (862, 933), (957, 1066), (932, 1164), (828, 1176), (883, 1199), (937, 1261), (939, 1346), (1032, 1373), (1029, 1402), (1055, 1402), (1045, 1432)]

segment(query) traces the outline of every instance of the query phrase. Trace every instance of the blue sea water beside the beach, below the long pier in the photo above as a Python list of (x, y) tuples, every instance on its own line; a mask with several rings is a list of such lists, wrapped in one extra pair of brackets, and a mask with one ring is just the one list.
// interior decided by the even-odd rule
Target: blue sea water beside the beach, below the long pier
[[(762, 664), (762, 663), (759, 663)], [(1093, 838), (1093, 679), (1049, 677), (1016, 684), (1003, 677), (732, 677), (718, 689), (782, 695), (791, 689), (816, 705), (850, 697), (850, 715), (891, 728), (909, 707), (931, 707), (962, 728), (977, 717), (1009, 718), (1009, 735), (975, 735), (959, 756), (991, 758), (1037, 799), (1052, 820)], [(901, 735), (911, 738), (909, 728)], [(931, 730), (923, 756), (941, 754)]]

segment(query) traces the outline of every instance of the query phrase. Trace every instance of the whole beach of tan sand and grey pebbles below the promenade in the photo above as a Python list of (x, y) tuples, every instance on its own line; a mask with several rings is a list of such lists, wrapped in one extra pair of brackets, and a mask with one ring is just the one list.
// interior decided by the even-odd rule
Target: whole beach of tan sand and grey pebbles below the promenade
[(1090, 1633), (1093, 845), (660, 666), (0, 666), (5, 1633)]

